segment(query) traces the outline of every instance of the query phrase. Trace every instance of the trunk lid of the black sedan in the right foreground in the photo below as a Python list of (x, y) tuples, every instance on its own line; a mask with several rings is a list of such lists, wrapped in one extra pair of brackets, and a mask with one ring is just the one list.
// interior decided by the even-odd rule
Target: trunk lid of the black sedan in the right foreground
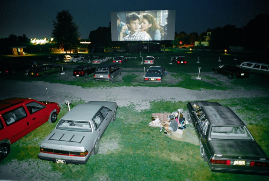
[[(267, 158), (255, 140), (210, 140), (213, 154), (243, 159)], [(268, 158), (267, 158), (268, 159)]]

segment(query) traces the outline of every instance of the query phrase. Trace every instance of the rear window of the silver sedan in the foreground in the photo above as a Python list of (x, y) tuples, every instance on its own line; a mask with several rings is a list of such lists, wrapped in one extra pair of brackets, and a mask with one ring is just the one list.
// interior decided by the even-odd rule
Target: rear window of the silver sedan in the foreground
[(56, 129), (78, 132), (92, 132), (90, 122), (60, 120)]

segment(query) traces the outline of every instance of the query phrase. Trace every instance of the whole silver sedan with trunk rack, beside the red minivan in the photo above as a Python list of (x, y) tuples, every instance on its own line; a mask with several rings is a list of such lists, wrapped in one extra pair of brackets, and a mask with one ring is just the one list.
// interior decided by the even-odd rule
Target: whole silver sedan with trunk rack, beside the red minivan
[(53, 163), (85, 164), (97, 154), (99, 141), (116, 119), (117, 103), (90, 101), (66, 113), (41, 143), (38, 158)]

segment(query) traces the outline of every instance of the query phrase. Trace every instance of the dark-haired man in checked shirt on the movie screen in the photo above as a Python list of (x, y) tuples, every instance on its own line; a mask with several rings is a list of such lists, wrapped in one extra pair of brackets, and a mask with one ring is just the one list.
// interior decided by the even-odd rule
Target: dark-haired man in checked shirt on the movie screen
[[(137, 13), (129, 13), (126, 17), (126, 25), (121, 28), (119, 41), (149, 41), (146, 33), (139, 31), (140, 18)], [(123, 37), (123, 33), (130, 30), (129, 35)]]

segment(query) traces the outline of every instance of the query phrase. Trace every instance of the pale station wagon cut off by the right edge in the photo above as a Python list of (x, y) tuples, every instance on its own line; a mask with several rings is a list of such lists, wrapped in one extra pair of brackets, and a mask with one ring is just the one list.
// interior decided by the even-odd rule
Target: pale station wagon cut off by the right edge
[(269, 75), (269, 64), (256, 62), (243, 62), (239, 65), (240, 68), (247, 70), (249, 73), (257, 73)]

